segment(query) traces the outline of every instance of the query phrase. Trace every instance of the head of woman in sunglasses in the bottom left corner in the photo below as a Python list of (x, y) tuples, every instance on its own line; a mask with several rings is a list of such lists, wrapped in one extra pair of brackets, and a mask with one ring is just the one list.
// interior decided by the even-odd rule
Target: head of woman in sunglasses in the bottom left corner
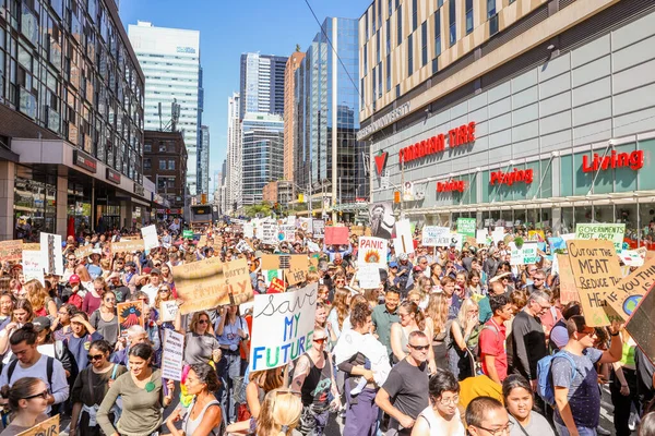
[(0, 435), (19, 435), (48, 419), (48, 387), (40, 378), (23, 377), (11, 388), (4, 386), (0, 393), (8, 399), (9, 409), (13, 413), (11, 424)]

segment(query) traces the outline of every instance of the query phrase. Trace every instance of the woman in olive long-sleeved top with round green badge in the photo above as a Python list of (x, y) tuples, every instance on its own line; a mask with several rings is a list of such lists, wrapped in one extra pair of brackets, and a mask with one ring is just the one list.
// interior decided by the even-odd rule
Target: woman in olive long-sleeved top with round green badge
[[(172, 401), (175, 383), (167, 380), (164, 385), (162, 371), (151, 367), (154, 353), (148, 343), (130, 348), (130, 371), (111, 384), (97, 411), (97, 422), (105, 435), (151, 435), (158, 432), (163, 410)], [(115, 427), (109, 414), (119, 396), (122, 412)]]

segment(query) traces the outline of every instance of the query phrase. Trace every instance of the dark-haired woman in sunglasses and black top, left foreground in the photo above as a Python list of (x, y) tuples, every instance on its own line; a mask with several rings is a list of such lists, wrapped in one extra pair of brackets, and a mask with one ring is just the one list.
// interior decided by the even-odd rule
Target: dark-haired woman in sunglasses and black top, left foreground
[[(96, 340), (88, 348), (88, 362), (78, 375), (71, 391), (73, 412), (69, 436), (100, 436), (100, 427), (96, 423), (96, 414), (103, 398), (114, 380), (128, 372), (123, 365), (109, 362), (112, 348), (106, 340)], [(109, 419), (115, 421), (120, 410), (115, 408)]]

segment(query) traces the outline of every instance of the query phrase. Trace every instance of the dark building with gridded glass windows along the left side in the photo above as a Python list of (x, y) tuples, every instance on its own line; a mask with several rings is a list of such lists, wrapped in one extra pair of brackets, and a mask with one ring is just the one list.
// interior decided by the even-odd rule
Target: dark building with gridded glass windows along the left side
[(143, 92), (114, 0), (0, 1), (0, 240), (150, 221)]

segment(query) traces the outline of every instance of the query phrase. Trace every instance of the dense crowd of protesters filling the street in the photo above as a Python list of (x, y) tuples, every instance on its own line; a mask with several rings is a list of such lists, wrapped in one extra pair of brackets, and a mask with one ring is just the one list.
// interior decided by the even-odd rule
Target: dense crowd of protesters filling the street
[[(43, 282), (26, 281), (20, 262), (2, 265), (1, 435), (56, 414), (80, 436), (319, 436), (340, 432), (335, 421), (346, 436), (655, 434), (648, 358), (622, 325), (590, 327), (579, 302), (562, 304), (550, 253), (511, 265), (511, 229), (444, 247), (424, 246), (417, 230), (413, 253), (390, 244), (374, 288), (359, 286), (357, 234), (326, 245), (299, 229), (267, 245), (242, 222), (194, 239), (178, 230), (159, 226), (158, 247), (130, 253), (111, 244), (136, 232), (71, 235), (63, 275)], [(245, 258), (254, 293), (266, 293), (261, 256), (285, 253), (315, 259), (297, 287), (319, 286), (312, 343), (289, 367), (249, 371), (251, 335), (262, 335), (251, 305), (162, 320), (162, 302), (184, 303), (175, 267)], [(145, 322), (121, 335), (117, 304), (129, 301), (143, 302)], [(184, 336), (181, 384), (162, 377), (166, 329)], [(614, 428), (600, 426), (605, 385)]]

